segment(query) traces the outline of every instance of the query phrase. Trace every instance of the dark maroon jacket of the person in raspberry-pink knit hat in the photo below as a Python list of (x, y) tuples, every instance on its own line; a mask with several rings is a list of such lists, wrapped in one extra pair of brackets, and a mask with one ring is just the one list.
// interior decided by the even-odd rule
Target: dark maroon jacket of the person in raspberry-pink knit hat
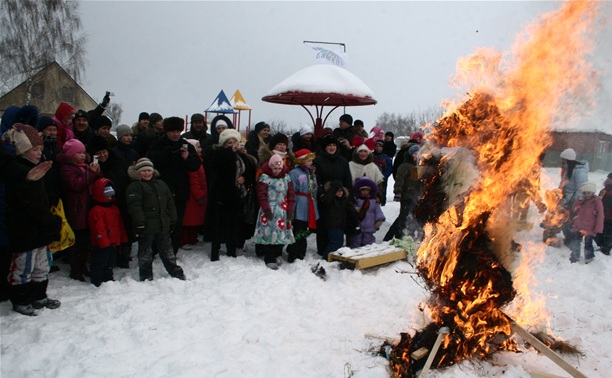
[(89, 186), (101, 176), (92, 172), (86, 163), (76, 165), (63, 153), (57, 155), (60, 163), (60, 179), (64, 212), (73, 230), (87, 229), (87, 213), (91, 206)]

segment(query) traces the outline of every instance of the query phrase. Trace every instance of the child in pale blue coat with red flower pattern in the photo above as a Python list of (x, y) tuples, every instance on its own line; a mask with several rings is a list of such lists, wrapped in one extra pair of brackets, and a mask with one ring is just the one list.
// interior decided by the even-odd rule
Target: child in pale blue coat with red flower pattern
[(273, 155), (264, 163), (257, 183), (257, 199), (260, 209), (253, 238), (256, 244), (262, 245), (266, 266), (276, 270), (283, 246), (295, 243), (291, 231), (295, 194), (280, 155)]

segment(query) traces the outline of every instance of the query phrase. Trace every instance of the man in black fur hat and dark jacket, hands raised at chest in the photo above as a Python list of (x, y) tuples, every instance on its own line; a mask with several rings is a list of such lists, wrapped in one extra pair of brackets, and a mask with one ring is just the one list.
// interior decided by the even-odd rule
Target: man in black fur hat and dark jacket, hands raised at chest
[(181, 137), (185, 121), (179, 117), (164, 119), (165, 134), (156, 140), (147, 153), (155, 168), (174, 196), (178, 221), (172, 231), (172, 248), (178, 253), (183, 230), (183, 215), (189, 199), (189, 172), (200, 168), (200, 158), (195, 148)]

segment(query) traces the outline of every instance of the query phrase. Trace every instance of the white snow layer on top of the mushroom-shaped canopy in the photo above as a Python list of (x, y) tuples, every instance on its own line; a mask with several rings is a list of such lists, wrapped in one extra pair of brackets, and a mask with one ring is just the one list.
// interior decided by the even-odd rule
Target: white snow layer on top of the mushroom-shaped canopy
[(306, 67), (274, 86), (264, 97), (285, 92), (340, 93), (374, 97), (372, 90), (361, 79), (344, 68), (330, 64)]

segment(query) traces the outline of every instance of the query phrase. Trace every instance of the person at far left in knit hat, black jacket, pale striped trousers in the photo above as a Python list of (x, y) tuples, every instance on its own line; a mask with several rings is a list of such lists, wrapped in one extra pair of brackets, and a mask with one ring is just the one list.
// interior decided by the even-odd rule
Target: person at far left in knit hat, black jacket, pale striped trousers
[[(43, 140), (36, 129), (16, 123), (4, 139), (15, 148), (17, 161), (27, 169), (42, 156)], [(6, 231), (11, 264), (9, 298), (13, 310), (35, 316), (36, 309), (55, 309), (60, 301), (47, 297), (49, 267), (53, 262), (47, 247), (59, 239), (62, 219), (51, 214), (44, 180), (6, 183)], [(5, 278), (6, 279), (6, 278)]]

